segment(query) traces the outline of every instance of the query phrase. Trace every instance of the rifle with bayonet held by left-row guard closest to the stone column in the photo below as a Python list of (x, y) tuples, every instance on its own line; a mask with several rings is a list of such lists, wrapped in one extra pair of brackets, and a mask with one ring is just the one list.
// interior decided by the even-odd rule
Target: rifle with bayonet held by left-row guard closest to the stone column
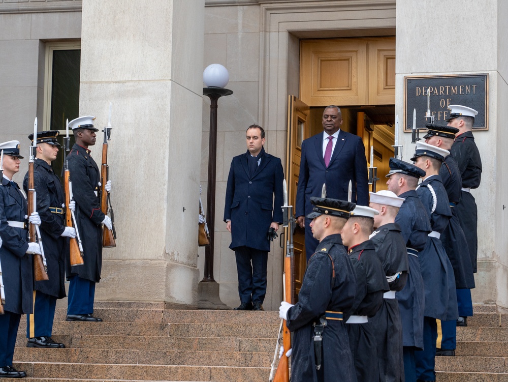
[(111, 224), (113, 225), (113, 229), (108, 229), (105, 225), (103, 226), (103, 235), (102, 235), (102, 246), (105, 248), (116, 247), (115, 239), (116, 239), (116, 230), (115, 230), (115, 221), (113, 208), (111, 207), (111, 199), (109, 196), (109, 192), (106, 191), (106, 182), (109, 177), (109, 166), (108, 166), (108, 140), (111, 140), (111, 102), (109, 103), (109, 114), (108, 114), (108, 127), (105, 127), (104, 132), (104, 142), (102, 143), (102, 166), (101, 166), (101, 184), (102, 184), (102, 194), (101, 194), (101, 211), (104, 215), (108, 215), (111, 212)]

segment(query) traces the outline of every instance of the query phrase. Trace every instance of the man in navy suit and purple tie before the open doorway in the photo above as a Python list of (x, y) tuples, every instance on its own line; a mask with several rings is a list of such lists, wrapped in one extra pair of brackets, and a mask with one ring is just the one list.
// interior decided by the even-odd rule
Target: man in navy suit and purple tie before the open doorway
[(352, 183), (353, 203), (369, 204), (367, 159), (362, 139), (340, 130), (342, 113), (337, 106), (328, 106), (323, 112), (323, 133), (302, 142), (300, 175), (296, 191), (298, 224), (305, 227), (307, 261), (317, 247), (312, 236), (310, 220), (305, 215), (312, 211), (310, 198), (321, 197), (326, 184), (326, 197), (347, 200), (348, 185)]

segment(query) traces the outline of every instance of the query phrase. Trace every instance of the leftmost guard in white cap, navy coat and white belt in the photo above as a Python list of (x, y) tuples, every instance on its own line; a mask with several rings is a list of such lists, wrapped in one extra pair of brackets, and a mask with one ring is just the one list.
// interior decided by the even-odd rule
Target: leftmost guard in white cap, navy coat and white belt
[[(5, 292), (4, 314), (0, 315), (0, 377), (22, 378), (24, 371), (12, 367), (14, 345), (21, 314), (29, 314), (33, 306), (34, 276), (31, 254), (41, 254), (38, 243), (28, 242), (26, 194), (12, 181), (19, 171), (19, 142), (0, 143), (4, 174), (0, 187), (0, 262)], [(30, 222), (40, 224), (37, 212)]]

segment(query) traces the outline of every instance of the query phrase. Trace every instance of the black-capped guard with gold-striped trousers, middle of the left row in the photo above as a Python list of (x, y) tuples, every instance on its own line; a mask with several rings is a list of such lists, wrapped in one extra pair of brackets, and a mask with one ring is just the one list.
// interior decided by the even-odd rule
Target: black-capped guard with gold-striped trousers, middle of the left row
[[(51, 166), (60, 147), (57, 136), (56, 130), (37, 133), (34, 184), (49, 280), (35, 282), (34, 311), (26, 315), (27, 347), (65, 347), (63, 343), (54, 342), (51, 335), (56, 300), (66, 297), (65, 257), (69, 252), (66, 237), (76, 237), (76, 230), (66, 227), (63, 187)], [(34, 134), (30, 134), (28, 139), (33, 141)], [(23, 189), (28, 192), (28, 172), (23, 180)]]

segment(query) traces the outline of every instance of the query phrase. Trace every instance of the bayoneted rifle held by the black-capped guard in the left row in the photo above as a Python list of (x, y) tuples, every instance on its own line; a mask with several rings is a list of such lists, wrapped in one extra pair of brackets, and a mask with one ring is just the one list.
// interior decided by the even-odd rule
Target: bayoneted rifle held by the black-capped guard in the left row
[[(73, 199), (72, 196), (72, 186), (71, 186), (71, 179), (69, 176), (69, 164), (67, 163), (67, 154), (71, 151), (70, 149), (70, 140), (69, 137), (69, 120), (66, 121), (66, 137), (63, 138), (63, 185), (65, 188), (65, 205), (66, 205), (66, 226), (67, 227), (74, 227), (76, 229), (76, 238), (70, 238), (69, 241), (69, 251), (70, 251), (70, 262), (71, 267), (74, 266), (80, 266), (83, 265), (83, 247), (81, 245), (81, 240), (79, 240), (79, 234), (78, 234), (78, 226), (76, 224), (76, 220), (74, 220), (73, 224), (73, 215), (72, 211), (69, 208), (69, 203)], [(78, 243), (79, 240), (79, 243)]]

